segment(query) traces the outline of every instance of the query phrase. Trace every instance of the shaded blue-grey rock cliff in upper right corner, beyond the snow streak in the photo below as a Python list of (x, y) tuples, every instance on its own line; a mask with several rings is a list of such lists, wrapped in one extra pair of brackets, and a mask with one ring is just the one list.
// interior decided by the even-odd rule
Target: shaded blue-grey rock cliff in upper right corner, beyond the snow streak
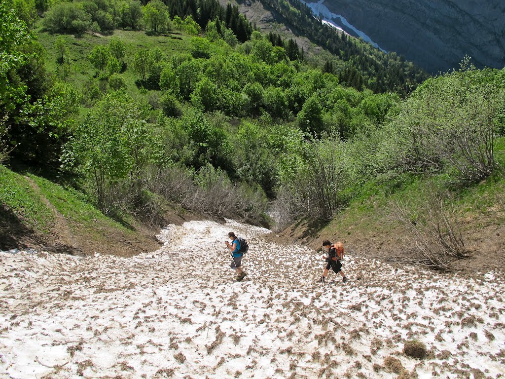
[[(505, 66), (503, 0), (321, 0), (381, 48), (431, 72), (457, 67), (465, 55), (479, 67)], [(337, 20), (338, 21), (338, 20)]]

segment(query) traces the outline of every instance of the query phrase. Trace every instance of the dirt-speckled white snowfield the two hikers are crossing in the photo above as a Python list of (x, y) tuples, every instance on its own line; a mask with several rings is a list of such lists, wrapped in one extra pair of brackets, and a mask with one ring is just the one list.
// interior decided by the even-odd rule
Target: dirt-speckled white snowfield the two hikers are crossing
[[(228, 231), (249, 242), (242, 282)], [(266, 232), (192, 221), (133, 258), (0, 253), (0, 378), (505, 377), (502, 276), (348, 255), (347, 283), (316, 285), (320, 254)]]

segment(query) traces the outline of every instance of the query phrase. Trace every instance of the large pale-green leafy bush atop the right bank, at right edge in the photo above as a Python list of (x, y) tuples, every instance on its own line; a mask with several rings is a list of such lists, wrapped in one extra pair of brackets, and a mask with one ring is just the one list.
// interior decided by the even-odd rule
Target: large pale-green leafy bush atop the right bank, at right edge
[(505, 106), (501, 75), (472, 67), (423, 83), (395, 120), (396, 156), (406, 169), (455, 171), (461, 184), (496, 170), (495, 137)]

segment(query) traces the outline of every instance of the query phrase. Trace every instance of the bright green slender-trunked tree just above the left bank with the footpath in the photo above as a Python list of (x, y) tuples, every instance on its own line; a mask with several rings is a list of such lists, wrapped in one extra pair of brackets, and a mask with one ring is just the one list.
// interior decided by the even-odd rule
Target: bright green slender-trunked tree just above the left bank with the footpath
[(125, 94), (108, 94), (78, 124), (68, 151), (82, 163), (93, 183), (97, 205), (107, 209), (107, 191), (114, 181), (134, 180), (160, 157), (159, 138), (144, 120), (147, 114)]

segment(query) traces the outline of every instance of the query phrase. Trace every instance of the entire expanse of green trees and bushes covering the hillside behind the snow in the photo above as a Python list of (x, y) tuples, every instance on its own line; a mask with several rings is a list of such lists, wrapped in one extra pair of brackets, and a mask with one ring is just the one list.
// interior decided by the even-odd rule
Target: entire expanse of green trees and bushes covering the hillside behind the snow
[(418, 86), (412, 63), (269, 3), (331, 36), (315, 40), (334, 60), (314, 67), (236, 7), (167, 4), (3, 2), (2, 161), (152, 224), (167, 201), (282, 227), (330, 220), (370, 186), (501, 180), (505, 71), (465, 58)]

